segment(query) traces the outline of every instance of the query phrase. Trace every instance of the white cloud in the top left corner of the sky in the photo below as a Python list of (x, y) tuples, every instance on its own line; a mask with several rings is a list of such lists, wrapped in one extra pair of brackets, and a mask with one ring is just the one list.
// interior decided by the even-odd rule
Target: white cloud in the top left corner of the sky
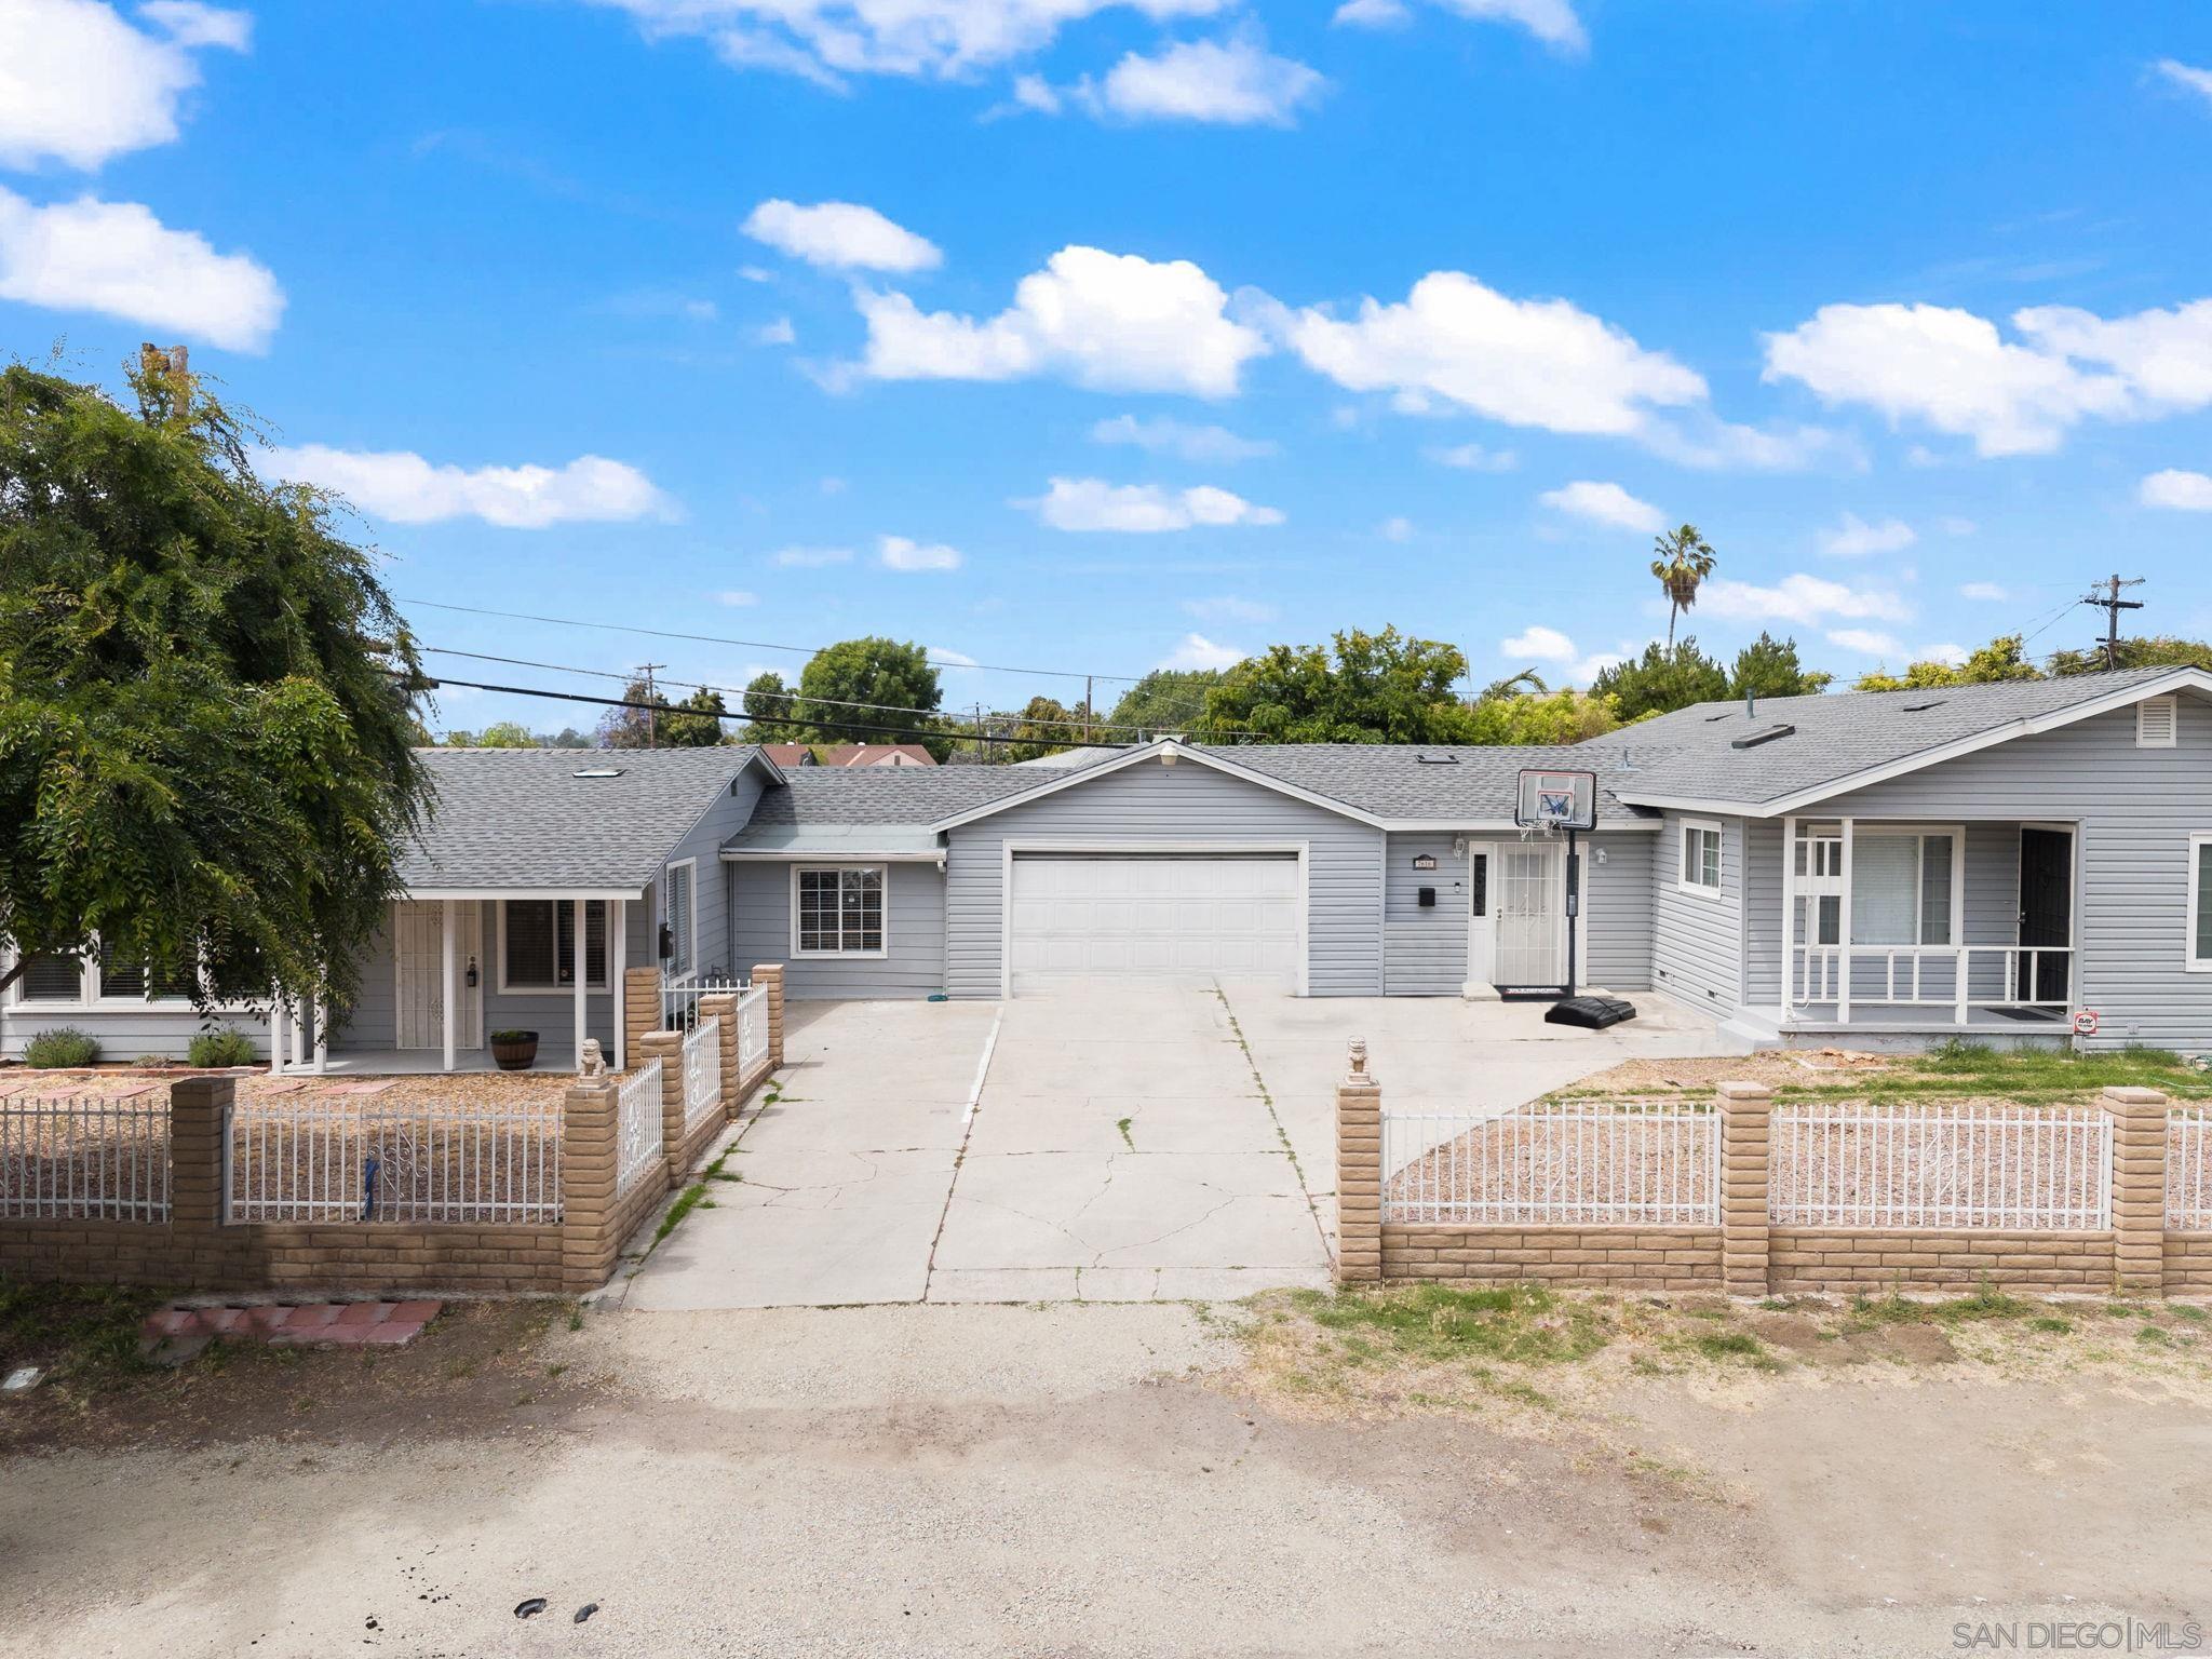
[(97, 0), (0, 4), (0, 166), (104, 161), (177, 137), (177, 106), (199, 84), (195, 49), (246, 51), (243, 11), (157, 0), (159, 33), (133, 29)]

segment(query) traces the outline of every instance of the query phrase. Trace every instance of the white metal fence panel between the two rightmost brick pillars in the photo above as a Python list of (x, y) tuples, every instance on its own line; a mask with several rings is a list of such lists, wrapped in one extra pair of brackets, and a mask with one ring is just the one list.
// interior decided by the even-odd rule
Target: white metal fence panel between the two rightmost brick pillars
[(2112, 1121), (2097, 1106), (1776, 1106), (1767, 1214), (1796, 1228), (2112, 1225)]

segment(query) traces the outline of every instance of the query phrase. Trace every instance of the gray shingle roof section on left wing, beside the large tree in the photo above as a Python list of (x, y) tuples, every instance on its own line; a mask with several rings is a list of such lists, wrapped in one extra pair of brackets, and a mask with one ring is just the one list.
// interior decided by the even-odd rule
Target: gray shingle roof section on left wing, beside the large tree
[[(400, 858), (411, 889), (641, 889), (752, 748), (420, 750), (436, 801)], [(577, 776), (588, 770), (617, 776)], [(770, 790), (770, 794), (781, 794)]]

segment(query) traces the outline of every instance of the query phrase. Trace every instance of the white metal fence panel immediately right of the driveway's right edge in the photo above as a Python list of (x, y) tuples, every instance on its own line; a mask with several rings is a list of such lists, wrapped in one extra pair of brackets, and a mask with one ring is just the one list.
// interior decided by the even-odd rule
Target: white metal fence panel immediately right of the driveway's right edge
[(1683, 1104), (1383, 1113), (1383, 1221), (1714, 1225), (1721, 1121)]

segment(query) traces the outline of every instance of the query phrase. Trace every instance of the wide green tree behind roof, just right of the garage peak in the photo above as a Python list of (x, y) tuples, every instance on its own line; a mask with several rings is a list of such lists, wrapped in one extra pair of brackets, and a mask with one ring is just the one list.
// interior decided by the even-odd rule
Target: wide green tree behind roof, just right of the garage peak
[(1396, 628), (1347, 628), (1334, 646), (1270, 646), (1206, 692), (1197, 737), (1259, 732), (1270, 743), (1464, 743), (1471, 710), (1451, 688), (1458, 646)]

